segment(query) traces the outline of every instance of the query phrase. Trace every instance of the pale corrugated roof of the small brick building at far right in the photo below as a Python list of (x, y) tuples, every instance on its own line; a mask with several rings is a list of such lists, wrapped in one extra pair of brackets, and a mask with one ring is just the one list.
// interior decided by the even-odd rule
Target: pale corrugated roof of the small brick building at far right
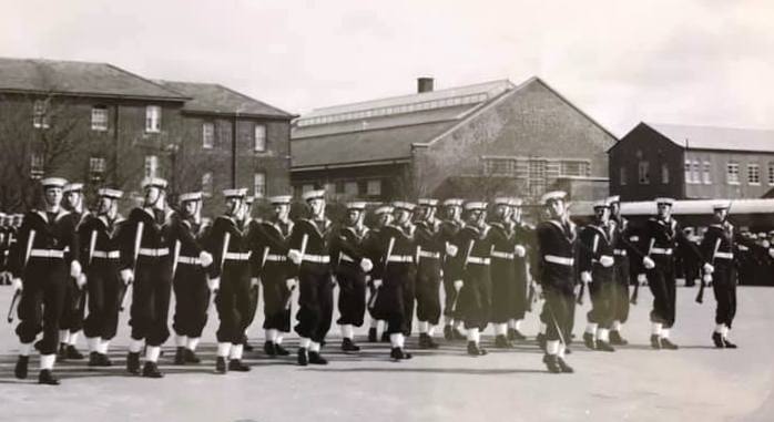
[(774, 152), (774, 131), (771, 130), (644, 124), (683, 148)]

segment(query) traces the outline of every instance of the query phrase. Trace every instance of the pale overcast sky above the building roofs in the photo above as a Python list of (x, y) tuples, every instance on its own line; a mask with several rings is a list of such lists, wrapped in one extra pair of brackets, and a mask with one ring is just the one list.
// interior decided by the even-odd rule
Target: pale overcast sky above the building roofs
[(538, 75), (617, 135), (774, 128), (774, 1), (0, 0), (0, 55), (217, 82), (292, 113)]

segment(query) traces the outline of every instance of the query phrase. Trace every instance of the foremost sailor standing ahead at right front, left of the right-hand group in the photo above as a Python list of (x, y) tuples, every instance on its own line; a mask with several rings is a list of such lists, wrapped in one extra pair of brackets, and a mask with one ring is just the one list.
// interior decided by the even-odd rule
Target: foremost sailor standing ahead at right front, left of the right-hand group
[(540, 285), (546, 298), (546, 356), (543, 363), (552, 373), (573, 372), (564, 361), (564, 350), (570, 340), (574, 319), (576, 270), (574, 249), (578, 236), (576, 225), (569, 219), (567, 194), (549, 192), (541, 197), (549, 217), (537, 228)]

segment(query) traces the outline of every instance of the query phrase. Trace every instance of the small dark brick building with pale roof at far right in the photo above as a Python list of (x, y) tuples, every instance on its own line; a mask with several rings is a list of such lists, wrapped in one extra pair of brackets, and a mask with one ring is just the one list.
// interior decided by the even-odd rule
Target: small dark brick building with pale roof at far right
[(774, 187), (774, 131), (640, 123), (609, 156), (623, 200), (758, 198)]

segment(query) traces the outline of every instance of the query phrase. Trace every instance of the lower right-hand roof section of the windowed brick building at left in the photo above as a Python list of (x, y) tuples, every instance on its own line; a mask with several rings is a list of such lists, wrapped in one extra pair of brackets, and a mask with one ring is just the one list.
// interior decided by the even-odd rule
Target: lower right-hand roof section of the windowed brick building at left
[(294, 117), (291, 113), (216, 83), (156, 82), (192, 99), (183, 106), (185, 112), (227, 115), (236, 115), (238, 113), (240, 115), (281, 119)]

